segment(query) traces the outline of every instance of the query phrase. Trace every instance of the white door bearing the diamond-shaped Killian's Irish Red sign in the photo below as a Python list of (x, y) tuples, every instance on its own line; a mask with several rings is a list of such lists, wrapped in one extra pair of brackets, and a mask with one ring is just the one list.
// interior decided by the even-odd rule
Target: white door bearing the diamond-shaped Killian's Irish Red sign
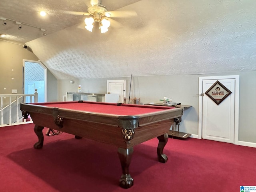
[[(205, 94), (217, 80), (232, 92), (220, 104), (216, 104)], [(200, 93), (204, 94), (199, 98), (199, 114), (202, 117), (199, 118), (201, 122), (198, 124), (201, 126), (202, 138), (228, 143), (238, 142), (239, 76), (202, 77), (199, 82)]]

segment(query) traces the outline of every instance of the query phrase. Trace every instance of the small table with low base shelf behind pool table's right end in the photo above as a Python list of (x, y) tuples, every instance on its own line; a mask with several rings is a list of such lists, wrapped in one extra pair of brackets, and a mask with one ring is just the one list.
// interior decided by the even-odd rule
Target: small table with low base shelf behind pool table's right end
[[(145, 105), (153, 105), (153, 106), (172, 106), (172, 105), (165, 105), (163, 103), (147, 103)], [(191, 105), (175, 105), (173, 107), (176, 107), (176, 108), (190, 108), (192, 107)], [(183, 114), (182, 114), (183, 115)], [(178, 131), (174, 131), (174, 124), (172, 124), (172, 130), (170, 130), (168, 132), (168, 136), (171, 137), (171, 138), (188, 138), (191, 136), (190, 133), (184, 133), (184, 132), (180, 132), (180, 122), (182, 121), (182, 118), (181, 116), (180, 117), (177, 117), (177, 118), (174, 118), (174, 122), (176, 123), (176, 125), (178, 125)]]

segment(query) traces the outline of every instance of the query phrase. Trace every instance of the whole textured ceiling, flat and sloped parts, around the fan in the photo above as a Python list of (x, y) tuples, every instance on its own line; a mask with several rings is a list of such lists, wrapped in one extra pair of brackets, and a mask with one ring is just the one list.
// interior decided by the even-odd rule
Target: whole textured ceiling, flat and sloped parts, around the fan
[[(0, 25), (26, 43), (58, 79), (205, 74), (256, 70), (255, 0), (102, 0), (134, 10), (101, 34), (84, 29), (86, 0), (1, 0), (0, 16), (46, 29)], [(40, 9), (48, 18), (38, 18)], [(23, 30), (24, 29), (24, 30)], [(5, 38), (7, 40), (7, 38)]]

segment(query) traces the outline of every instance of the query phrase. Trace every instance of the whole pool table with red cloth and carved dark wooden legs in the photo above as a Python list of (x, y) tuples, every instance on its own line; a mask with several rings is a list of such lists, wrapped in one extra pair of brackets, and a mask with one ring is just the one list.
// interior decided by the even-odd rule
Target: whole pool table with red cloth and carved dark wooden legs
[(86, 101), (21, 103), (20, 110), (24, 118), (30, 116), (35, 124), (34, 132), (38, 136), (35, 149), (43, 147), (44, 127), (117, 146), (122, 188), (133, 185), (129, 166), (135, 145), (157, 137), (158, 161), (165, 163), (168, 160), (163, 154), (167, 133), (174, 118), (183, 114), (182, 108), (169, 106)]

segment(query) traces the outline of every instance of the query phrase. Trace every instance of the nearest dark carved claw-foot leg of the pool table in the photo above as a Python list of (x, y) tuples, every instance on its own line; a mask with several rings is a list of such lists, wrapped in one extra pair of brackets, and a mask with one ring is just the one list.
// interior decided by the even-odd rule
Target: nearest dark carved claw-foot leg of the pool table
[(118, 156), (122, 166), (122, 176), (119, 180), (119, 185), (125, 189), (133, 186), (133, 178), (129, 174), (129, 166), (132, 159), (132, 153), (133, 147), (128, 149), (118, 148)]

